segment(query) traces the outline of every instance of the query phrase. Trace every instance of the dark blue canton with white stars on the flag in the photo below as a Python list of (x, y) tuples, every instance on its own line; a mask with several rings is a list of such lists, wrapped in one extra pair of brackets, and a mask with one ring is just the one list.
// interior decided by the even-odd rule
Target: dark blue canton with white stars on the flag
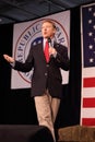
[(95, 67), (95, 3), (82, 8), (84, 67)]

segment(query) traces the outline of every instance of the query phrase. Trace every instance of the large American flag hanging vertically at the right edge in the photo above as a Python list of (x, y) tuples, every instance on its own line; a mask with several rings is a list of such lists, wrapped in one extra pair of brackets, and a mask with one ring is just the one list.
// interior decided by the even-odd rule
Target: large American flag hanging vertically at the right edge
[(81, 7), (81, 125), (95, 126), (95, 3)]

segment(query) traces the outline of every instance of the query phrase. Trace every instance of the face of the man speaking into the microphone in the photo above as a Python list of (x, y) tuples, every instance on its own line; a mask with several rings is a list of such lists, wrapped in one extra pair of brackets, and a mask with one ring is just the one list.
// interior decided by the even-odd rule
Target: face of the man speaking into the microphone
[(56, 33), (55, 27), (52, 26), (51, 23), (49, 22), (45, 22), (41, 26), (41, 34), (44, 38), (48, 38), (48, 37), (54, 37)]

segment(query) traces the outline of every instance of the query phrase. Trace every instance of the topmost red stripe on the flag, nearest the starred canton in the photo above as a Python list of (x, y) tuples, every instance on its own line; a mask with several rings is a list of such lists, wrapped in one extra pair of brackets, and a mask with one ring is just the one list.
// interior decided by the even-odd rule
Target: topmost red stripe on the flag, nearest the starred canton
[(95, 78), (84, 78), (83, 87), (95, 87)]

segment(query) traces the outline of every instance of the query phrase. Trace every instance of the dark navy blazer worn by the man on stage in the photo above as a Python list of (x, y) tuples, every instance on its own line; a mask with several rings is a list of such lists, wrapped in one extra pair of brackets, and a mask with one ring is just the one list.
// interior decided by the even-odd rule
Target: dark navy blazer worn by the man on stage
[(56, 58), (51, 56), (49, 63), (47, 63), (45, 59), (43, 40), (31, 47), (24, 63), (15, 61), (14, 69), (17, 71), (28, 72), (34, 68), (31, 96), (43, 95), (46, 87), (48, 87), (52, 97), (62, 97), (62, 76), (60, 68), (68, 71), (70, 60), (67, 47), (57, 43), (54, 44), (54, 47), (57, 50), (57, 56)]

